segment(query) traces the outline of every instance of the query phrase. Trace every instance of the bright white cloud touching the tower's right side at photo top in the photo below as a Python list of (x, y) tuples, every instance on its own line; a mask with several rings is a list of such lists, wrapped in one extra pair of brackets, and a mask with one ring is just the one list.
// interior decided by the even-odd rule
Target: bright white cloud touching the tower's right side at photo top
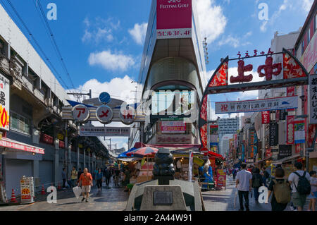
[(227, 18), (223, 15), (223, 8), (216, 6), (214, 0), (197, 0), (197, 11), (201, 35), (211, 43), (225, 31)]

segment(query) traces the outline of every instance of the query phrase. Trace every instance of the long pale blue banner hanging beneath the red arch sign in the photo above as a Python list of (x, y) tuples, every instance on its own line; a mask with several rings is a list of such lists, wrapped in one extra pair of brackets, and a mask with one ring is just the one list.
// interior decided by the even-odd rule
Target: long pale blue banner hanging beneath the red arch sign
[(271, 99), (256, 99), (237, 102), (216, 102), (216, 114), (232, 114), (254, 111), (268, 111), (280, 109), (296, 109), (297, 96), (275, 97)]

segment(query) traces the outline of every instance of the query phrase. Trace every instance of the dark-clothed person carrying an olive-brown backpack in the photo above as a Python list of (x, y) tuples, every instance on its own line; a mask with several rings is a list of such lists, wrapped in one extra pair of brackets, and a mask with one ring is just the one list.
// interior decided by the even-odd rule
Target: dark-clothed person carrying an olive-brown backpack
[(266, 204), (272, 195), (272, 211), (284, 211), (288, 202), (291, 200), (290, 183), (284, 179), (285, 171), (281, 167), (275, 170), (275, 179), (268, 186), (268, 197)]

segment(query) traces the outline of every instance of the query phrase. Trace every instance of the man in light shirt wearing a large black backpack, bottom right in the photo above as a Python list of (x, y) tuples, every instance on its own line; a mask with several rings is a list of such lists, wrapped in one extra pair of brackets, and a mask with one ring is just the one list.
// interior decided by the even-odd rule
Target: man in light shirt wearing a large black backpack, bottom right
[(303, 170), (302, 163), (296, 162), (294, 166), (297, 171), (290, 174), (288, 181), (292, 188), (292, 202), (298, 211), (302, 211), (306, 203), (306, 197), (311, 193), (311, 184), (309, 183), (311, 176)]

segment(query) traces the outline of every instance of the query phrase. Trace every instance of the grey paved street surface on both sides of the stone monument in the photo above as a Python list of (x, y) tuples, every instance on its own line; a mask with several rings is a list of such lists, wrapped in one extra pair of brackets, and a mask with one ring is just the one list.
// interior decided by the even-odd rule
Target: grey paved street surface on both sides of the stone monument
[[(112, 185), (112, 183), (111, 183)], [(235, 205), (235, 182), (227, 176), (225, 190), (210, 190), (202, 192), (206, 211), (237, 211), (240, 208), (239, 197)], [(128, 200), (128, 193), (123, 188), (107, 189), (103, 187), (99, 193), (97, 188), (92, 188), (89, 202), (81, 202), (82, 196), (77, 200), (72, 190), (60, 190), (57, 193), (57, 204), (46, 202), (47, 195), (37, 195), (36, 202), (30, 205), (11, 205), (0, 207), (0, 211), (122, 211)], [(308, 200), (304, 209), (308, 207)], [(271, 211), (271, 204), (256, 204), (254, 196), (249, 195), (251, 211)], [(290, 211), (287, 206), (285, 211)]]

